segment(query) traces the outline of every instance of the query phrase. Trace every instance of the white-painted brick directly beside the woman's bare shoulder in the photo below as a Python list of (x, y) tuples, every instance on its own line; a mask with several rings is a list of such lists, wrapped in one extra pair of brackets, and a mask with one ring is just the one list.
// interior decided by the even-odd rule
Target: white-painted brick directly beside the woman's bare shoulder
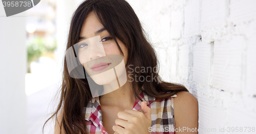
[(194, 90), (198, 93), (199, 129), (201, 129), (199, 133), (207, 132), (207, 129), (212, 131), (208, 133), (218, 133), (219, 127), (224, 125), (226, 117), (222, 104), (223, 98), (219, 95), (221, 92), (200, 84), (195, 84)]

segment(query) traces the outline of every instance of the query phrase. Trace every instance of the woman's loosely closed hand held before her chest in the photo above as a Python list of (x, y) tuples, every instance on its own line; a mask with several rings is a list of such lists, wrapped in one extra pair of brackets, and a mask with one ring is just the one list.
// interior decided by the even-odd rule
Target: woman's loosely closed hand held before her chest
[(112, 129), (115, 131), (114, 134), (142, 134), (151, 133), (148, 131), (148, 127), (151, 127), (151, 109), (143, 101), (141, 102), (141, 109), (144, 112), (141, 113), (135, 110), (125, 110), (124, 112), (118, 112)]

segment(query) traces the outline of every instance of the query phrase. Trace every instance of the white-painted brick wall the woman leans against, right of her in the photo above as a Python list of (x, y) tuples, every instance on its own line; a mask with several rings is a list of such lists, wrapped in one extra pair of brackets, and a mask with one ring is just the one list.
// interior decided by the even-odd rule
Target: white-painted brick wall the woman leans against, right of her
[(244, 130), (256, 127), (256, 1), (128, 2), (156, 46), (160, 75), (198, 99), (199, 133), (253, 133)]

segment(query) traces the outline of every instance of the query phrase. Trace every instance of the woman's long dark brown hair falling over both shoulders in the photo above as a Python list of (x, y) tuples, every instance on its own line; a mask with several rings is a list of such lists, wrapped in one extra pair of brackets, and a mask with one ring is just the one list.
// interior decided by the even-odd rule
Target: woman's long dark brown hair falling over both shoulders
[[(117, 38), (126, 46), (129, 53), (125, 65), (126, 72), (130, 72), (129, 74), (132, 74), (130, 76), (134, 78), (135, 76), (146, 77), (148, 75), (155, 77), (155, 80), (150, 82), (131, 82), (135, 97), (141, 99), (137, 94), (138, 91), (143, 91), (147, 95), (160, 99), (168, 98), (179, 91), (188, 92), (180, 84), (167, 83), (161, 80), (158, 75), (159, 69), (156, 52), (147, 41), (144, 30), (134, 10), (124, 0), (87, 0), (81, 3), (74, 12), (71, 20), (66, 49), (78, 43), (83, 21), (91, 11), (95, 12), (104, 28), (113, 37), (122, 55), (123, 52), (118, 45)], [(66, 60), (65, 58), (60, 101), (56, 112), (46, 123), (51, 118), (57, 117), (60, 109), (63, 109), (61, 124), (65, 128), (65, 131), (67, 133), (86, 133), (83, 109), (92, 99), (91, 91), (86, 78), (72, 78), (69, 75)], [(136, 68), (138, 73), (134, 71), (135, 67), (140, 67)], [(153, 70), (143, 72), (140, 71), (141, 67), (150, 67)]]

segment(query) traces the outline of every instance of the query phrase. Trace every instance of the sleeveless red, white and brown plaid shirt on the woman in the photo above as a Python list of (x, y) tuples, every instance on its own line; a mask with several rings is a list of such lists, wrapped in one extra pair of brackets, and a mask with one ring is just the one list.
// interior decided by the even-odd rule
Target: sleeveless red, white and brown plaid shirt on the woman
[[(140, 91), (140, 98), (146, 102), (147, 106), (151, 108), (151, 119), (152, 127), (148, 130), (151, 133), (168, 133), (174, 134), (174, 99), (177, 95), (173, 95), (166, 99), (156, 99), (146, 95), (144, 92)], [(140, 99), (137, 98), (133, 110), (140, 111), (141, 103)], [(92, 100), (87, 104), (87, 107), (84, 108), (83, 113), (86, 113), (86, 124), (90, 133), (95, 134), (109, 134), (102, 125), (102, 113), (99, 103), (99, 97), (92, 98)]]

